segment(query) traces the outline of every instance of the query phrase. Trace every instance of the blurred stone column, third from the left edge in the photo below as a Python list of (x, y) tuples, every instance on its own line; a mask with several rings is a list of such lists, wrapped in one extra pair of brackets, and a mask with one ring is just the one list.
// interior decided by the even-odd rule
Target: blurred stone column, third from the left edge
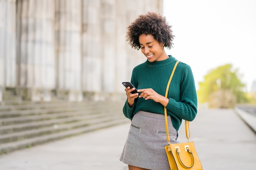
[(57, 88), (70, 100), (81, 93), (81, 8), (81, 0), (55, 0)]

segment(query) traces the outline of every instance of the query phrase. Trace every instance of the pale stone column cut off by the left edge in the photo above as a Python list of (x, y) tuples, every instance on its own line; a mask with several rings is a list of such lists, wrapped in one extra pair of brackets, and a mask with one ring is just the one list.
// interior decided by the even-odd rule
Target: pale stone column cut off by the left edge
[[(16, 85), (16, 0), (0, 1), (0, 86)], [(2, 95), (0, 95), (1, 98)], [(1, 100), (1, 99), (0, 99)]]

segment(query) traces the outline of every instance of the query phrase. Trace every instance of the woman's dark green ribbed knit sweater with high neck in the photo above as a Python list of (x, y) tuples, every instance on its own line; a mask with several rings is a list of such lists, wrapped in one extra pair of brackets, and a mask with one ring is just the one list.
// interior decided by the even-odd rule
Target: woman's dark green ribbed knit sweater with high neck
[[(137, 89), (152, 88), (158, 94), (165, 96), (166, 86), (176, 59), (169, 55), (168, 59), (137, 65), (132, 71), (131, 83)], [(166, 106), (167, 115), (171, 116), (173, 127), (179, 130), (182, 119), (192, 121), (197, 114), (197, 94), (192, 70), (185, 63), (178, 63), (168, 89), (169, 102)], [(132, 117), (138, 111), (147, 111), (164, 115), (164, 106), (154, 100), (136, 98), (132, 107), (126, 100), (124, 108), (126, 118)]]

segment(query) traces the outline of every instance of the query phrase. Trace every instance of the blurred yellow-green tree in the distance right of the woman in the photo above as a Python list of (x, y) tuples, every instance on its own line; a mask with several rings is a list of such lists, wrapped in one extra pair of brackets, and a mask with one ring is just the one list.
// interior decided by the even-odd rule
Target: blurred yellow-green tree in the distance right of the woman
[(245, 84), (238, 77), (238, 69), (231, 64), (210, 70), (199, 83), (198, 102), (207, 102), (209, 107), (231, 108), (236, 103), (248, 102)]

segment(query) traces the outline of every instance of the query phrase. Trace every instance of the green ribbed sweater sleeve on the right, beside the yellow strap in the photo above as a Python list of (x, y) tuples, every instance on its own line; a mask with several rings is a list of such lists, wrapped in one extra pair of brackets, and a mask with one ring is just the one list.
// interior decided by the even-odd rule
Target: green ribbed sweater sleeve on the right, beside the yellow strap
[(192, 121), (197, 114), (197, 94), (192, 70), (186, 65), (182, 71), (180, 84), (180, 101), (169, 98), (166, 106), (168, 115), (175, 115), (177, 118)]

